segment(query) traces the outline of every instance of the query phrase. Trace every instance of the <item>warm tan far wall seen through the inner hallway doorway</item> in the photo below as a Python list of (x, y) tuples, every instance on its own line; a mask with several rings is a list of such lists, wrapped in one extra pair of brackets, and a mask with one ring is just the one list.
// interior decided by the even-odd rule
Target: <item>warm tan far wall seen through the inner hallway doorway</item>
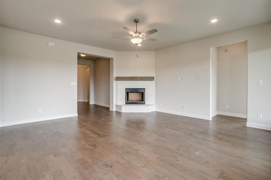
[(89, 66), (77, 65), (77, 101), (89, 101)]

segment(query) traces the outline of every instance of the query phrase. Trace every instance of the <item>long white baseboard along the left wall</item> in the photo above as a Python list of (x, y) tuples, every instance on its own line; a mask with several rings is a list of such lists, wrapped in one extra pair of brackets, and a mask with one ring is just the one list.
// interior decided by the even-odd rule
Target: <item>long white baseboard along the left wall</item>
[(23, 119), (23, 120), (12, 121), (12, 122), (2, 122), (0, 124), (0, 127), (12, 126), (12, 125), (20, 125), (20, 124), (25, 124), (25, 123), (30, 123), (30, 122), (47, 121), (47, 120), (52, 120), (52, 119), (69, 118), (69, 117), (74, 117), (74, 116), (78, 116), (78, 114), (77, 113), (72, 113), (72, 114), (63, 114), (63, 115), (57, 115), (57, 116), (47, 116), (47, 117), (41, 117), (41, 118), (33, 118), (33, 119)]

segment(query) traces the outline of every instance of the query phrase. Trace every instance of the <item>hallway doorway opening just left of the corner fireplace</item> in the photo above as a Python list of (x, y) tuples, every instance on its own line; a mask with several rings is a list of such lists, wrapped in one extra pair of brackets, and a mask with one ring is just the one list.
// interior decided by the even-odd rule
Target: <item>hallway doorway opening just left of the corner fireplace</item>
[[(81, 94), (84, 94), (85, 98), (89, 98), (84, 99), (84, 102), (110, 107), (110, 59), (78, 52), (77, 64), (78, 102), (82, 98)], [(84, 82), (84, 91), (80, 78)]]

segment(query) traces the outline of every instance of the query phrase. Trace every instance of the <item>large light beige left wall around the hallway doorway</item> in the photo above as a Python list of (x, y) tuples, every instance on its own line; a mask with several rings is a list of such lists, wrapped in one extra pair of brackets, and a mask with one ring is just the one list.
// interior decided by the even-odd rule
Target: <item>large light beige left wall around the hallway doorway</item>
[(107, 49), (4, 27), (0, 33), (1, 126), (77, 116), (77, 52), (116, 58)]

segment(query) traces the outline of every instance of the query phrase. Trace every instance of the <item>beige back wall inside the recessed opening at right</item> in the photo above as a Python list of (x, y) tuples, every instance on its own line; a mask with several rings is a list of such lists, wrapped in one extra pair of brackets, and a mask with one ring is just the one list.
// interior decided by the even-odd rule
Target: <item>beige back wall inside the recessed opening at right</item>
[(217, 111), (247, 114), (247, 54), (246, 41), (217, 47)]

